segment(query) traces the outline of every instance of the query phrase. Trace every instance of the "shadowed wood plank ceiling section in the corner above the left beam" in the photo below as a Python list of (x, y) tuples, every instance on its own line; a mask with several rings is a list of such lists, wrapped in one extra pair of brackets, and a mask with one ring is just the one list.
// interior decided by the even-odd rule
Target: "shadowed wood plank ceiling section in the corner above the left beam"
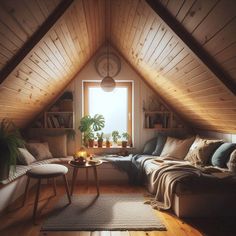
[(61, 0), (0, 1), (0, 69), (40, 28)]

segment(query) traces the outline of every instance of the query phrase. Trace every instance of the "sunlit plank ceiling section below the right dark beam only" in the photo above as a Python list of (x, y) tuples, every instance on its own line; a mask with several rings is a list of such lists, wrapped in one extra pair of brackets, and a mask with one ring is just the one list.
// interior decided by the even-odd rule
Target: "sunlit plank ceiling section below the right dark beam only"
[(236, 99), (144, 1), (112, 2), (112, 42), (196, 128), (236, 132)]

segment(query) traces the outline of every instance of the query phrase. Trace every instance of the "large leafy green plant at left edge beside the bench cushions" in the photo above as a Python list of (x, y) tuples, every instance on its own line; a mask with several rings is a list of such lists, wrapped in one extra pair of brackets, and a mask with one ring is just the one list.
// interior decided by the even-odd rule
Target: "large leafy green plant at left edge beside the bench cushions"
[(10, 166), (16, 166), (18, 147), (22, 147), (24, 141), (19, 130), (9, 119), (3, 119), (0, 123), (0, 180), (7, 179)]

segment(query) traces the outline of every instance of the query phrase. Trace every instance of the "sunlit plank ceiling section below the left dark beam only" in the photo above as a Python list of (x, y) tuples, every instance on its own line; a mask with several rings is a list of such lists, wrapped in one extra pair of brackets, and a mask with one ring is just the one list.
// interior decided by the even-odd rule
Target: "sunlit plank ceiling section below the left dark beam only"
[[(23, 127), (60, 93), (104, 41), (104, 1), (75, 1), (0, 85), (0, 120)], [(94, 30), (96, 27), (96, 30)]]

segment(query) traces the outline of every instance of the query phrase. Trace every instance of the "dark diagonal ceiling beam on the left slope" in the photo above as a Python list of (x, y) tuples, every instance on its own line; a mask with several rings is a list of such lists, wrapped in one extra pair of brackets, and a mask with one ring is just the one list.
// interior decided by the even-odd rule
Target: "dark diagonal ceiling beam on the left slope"
[(32, 37), (24, 44), (18, 53), (3, 67), (0, 72), (0, 83), (16, 68), (16, 66), (25, 58), (25, 56), (33, 49), (33, 47), (42, 39), (42, 37), (51, 29), (56, 21), (63, 15), (73, 0), (63, 0), (46, 19), (40, 28), (32, 35)]

